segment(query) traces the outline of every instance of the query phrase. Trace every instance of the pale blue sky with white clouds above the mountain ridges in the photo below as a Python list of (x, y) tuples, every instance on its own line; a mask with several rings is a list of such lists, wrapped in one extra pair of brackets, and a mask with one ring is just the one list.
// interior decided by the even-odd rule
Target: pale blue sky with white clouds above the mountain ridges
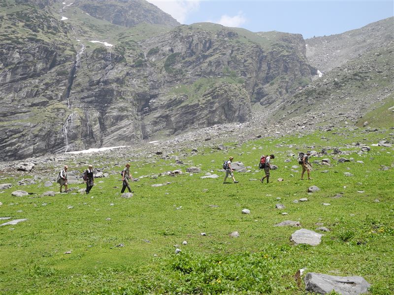
[[(181, 24), (211, 22), (307, 39), (359, 29), (394, 16), (394, 0), (148, 0)], [(393, 23), (394, 33), (394, 23)]]

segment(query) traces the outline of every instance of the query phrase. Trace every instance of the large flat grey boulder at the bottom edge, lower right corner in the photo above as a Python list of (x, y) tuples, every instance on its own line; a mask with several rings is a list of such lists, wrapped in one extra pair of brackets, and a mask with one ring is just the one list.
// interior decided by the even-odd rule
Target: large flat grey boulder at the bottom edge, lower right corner
[(309, 272), (305, 276), (305, 290), (317, 294), (327, 294), (335, 291), (342, 295), (359, 295), (368, 292), (371, 286), (360, 276), (333, 276)]

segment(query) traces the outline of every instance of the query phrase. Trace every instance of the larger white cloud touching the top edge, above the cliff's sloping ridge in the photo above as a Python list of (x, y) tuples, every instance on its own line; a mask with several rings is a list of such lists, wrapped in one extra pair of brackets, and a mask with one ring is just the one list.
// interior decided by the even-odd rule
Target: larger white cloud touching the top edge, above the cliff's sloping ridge
[(181, 24), (184, 24), (188, 14), (197, 11), (200, 6), (200, 0), (187, 1), (187, 0), (147, 0), (156, 5), (164, 12), (170, 14)]

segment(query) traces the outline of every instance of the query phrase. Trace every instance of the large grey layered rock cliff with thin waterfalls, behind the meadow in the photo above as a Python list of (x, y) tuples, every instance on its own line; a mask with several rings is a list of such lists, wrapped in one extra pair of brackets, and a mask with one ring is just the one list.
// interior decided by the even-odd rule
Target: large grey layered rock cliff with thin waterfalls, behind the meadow
[[(75, 1), (62, 22), (54, 3), (4, 3), (18, 9), (10, 6), (2, 19), (0, 160), (246, 122), (252, 103), (274, 106), (316, 73), (301, 35), (178, 26), (139, 0)], [(14, 23), (24, 30), (16, 33)], [(113, 46), (90, 42), (107, 39), (108, 29)]]

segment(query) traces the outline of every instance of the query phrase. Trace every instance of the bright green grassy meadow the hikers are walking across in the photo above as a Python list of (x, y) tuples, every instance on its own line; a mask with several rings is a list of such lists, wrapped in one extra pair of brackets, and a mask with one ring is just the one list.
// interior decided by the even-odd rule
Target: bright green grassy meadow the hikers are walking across
[[(190, 146), (169, 153), (170, 158), (125, 155), (125, 159), (103, 159), (97, 155), (91, 159), (93, 164), (113, 173), (96, 179), (88, 196), (42, 197), (44, 191), (58, 190), (44, 188), (45, 177), (35, 185), (18, 187), (16, 180), (29, 176), (7, 178), (4, 174), (1, 183), (10, 181), (14, 186), (0, 194), (1, 216), (29, 220), (0, 228), (0, 293), (304, 294), (304, 287), (298, 288), (292, 276), (307, 267), (307, 271), (333, 275), (361, 275), (372, 284), (371, 294), (390, 294), (394, 288), (394, 174), (393, 168), (382, 171), (380, 165), (392, 165), (393, 150), (371, 146), (384, 137), (393, 141), (388, 133), (339, 129), (302, 138), (260, 139), (243, 145), (231, 142), (226, 151), (201, 147), (195, 155), (190, 154)], [(345, 147), (353, 142), (368, 144), (371, 151), (359, 155), (360, 148)], [(355, 161), (332, 161), (332, 167), (315, 164), (314, 180), (300, 181), (300, 169), (296, 173), (291, 168), (296, 159), (290, 163), (284, 160), (289, 151), (297, 153), (309, 146), (316, 150), (340, 147), (349, 153), (345, 157)], [(262, 176), (261, 171), (256, 172), (258, 159), (271, 152), (279, 166), (271, 171), (272, 183), (249, 180)], [(252, 167), (251, 173), (235, 174), (238, 184), (222, 184), (223, 173), (217, 171), (230, 155)], [(174, 164), (176, 156), (185, 164)], [(203, 172), (141, 178), (132, 184), (134, 197), (126, 200), (120, 198), (121, 182), (115, 172), (129, 157), (134, 177), (176, 168), (185, 171), (192, 165)], [(70, 171), (83, 171), (85, 164), (79, 161), (66, 163)], [(57, 170), (40, 164), (37, 169), (53, 171), (53, 175)], [(323, 170), (328, 173), (321, 173)], [(210, 171), (220, 178), (200, 179)], [(354, 177), (346, 177), (344, 172)], [(284, 181), (276, 181), (278, 177)], [(151, 187), (167, 182), (170, 184)], [(312, 184), (321, 190), (308, 195), (306, 190)], [(34, 194), (12, 197), (11, 192), (17, 189)], [(343, 197), (332, 199), (336, 193), (343, 193)], [(293, 203), (303, 197), (309, 201)], [(277, 203), (286, 208), (275, 209)], [(251, 214), (241, 214), (243, 208)], [(281, 215), (284, 211), (289, 214)], [(283, 220), (298, 220), (302, 228), (310, 230), (322, 222), (331, 231), (318, 246), (294, 246), (289, 238), (296, 228), (273, 227)], [(233, 231), (240, 237), (230, 238)], [(202, 232), (207, 236), (201, 236)], [(188, 245), (182, 245), (183, 240)], [(116, 247), (121, 243), (124, 247)], [(180, 255), (174, 254), (174, 245), (179, 245)], [(69, 250), (71, 254), (64, 254)]]

